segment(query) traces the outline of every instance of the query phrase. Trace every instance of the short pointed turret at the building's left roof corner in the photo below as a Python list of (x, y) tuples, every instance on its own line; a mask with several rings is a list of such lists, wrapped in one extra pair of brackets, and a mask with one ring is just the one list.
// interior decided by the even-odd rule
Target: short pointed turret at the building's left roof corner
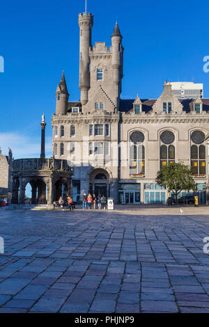
[(66, 86), (65, 74), (63, 75), (60, 83), (56, 88), (56, 115), (65, 115), (68, 111), (68, 88)]

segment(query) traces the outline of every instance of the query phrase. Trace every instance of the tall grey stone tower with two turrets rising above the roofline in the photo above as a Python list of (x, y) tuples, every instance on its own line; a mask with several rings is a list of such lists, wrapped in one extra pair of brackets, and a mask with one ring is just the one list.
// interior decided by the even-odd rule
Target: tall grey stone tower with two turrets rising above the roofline
[(123, 79), (122, 35), (118, 24), (111, 35), (111, 47), (105, 42), (91, 45), (93, 15), (79, 14), (80, 51), (79, 51), (79, 89), (83, 112), (94, 111), (97, 106), (107, 112), (119, 108), (121, 81)]

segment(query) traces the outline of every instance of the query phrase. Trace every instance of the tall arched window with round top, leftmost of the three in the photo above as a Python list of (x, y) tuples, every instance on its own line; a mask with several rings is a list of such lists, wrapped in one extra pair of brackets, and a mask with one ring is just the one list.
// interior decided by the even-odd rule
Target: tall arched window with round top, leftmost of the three
[(145, 150), (144, 134), (141, 131), (133, 131), (130, 135), (130, 174), (144, 175), (145, 173)]

